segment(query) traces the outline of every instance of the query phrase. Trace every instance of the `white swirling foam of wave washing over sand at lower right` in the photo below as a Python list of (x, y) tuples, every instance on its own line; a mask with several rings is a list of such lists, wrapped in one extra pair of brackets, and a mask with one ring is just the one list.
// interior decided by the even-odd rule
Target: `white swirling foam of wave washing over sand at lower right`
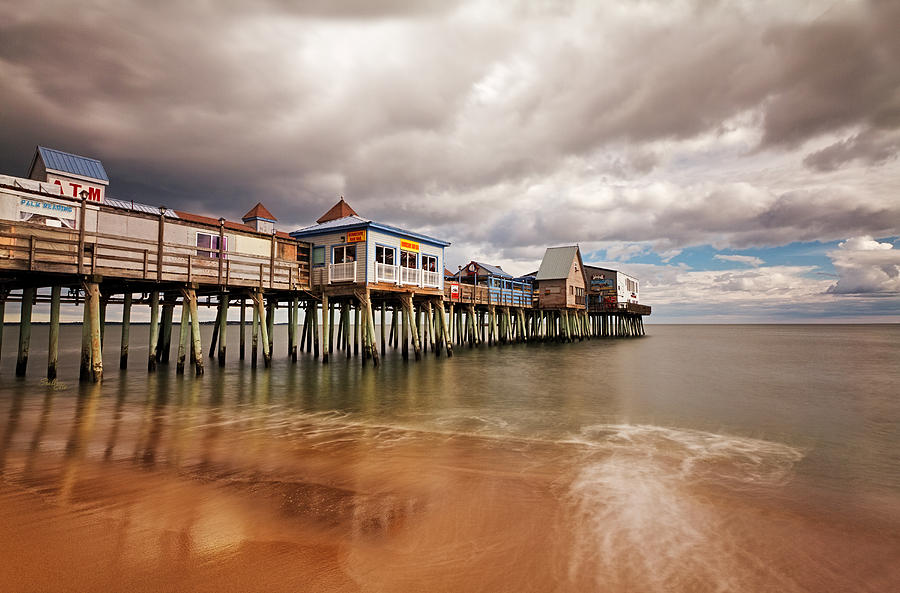
[(752, 591), (781, 580), (742, 549), (738, 532), (748, 526), (702, 486), (776, 488), (803, 451), (649, 425), (596, 425), (574, 440), (595, 454), (565, 496), (571, 581), (606, 590)]

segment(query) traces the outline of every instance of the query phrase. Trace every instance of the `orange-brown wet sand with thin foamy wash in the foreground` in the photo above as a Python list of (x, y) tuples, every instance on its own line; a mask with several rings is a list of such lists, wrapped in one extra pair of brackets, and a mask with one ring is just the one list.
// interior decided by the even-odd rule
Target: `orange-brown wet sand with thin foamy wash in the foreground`
[(22, 396), (4, 433), (3, 591), (900, 582), (897, 525), (784, 500), (803, 452), (776, 443), (630, 425), (488, 438), (337, 414), (130, 406), (99, 389), (53, 399)]

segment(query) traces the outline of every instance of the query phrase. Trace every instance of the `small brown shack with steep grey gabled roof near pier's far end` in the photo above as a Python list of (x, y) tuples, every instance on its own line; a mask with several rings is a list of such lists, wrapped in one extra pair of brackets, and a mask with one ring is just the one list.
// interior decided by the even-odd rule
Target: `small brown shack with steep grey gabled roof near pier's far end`
[(585, 308), (584, 264), (577, 245), (548, 247), (535, 275), (541, 309)]

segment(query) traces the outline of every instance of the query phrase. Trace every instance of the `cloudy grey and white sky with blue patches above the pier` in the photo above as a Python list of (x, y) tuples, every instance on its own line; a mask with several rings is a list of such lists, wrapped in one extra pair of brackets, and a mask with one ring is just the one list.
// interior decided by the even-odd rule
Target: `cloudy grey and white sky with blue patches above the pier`
[[(900, 322), (900, 2), (0, 0), (0, 173), (278, 228), (339, 196), (656, 322)], [(650, 321), (650, 320), (648, 320)]]

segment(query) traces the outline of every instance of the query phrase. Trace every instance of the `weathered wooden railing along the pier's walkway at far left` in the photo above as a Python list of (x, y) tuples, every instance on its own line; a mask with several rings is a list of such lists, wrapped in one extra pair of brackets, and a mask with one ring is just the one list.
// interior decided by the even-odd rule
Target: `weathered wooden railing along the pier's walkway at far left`
[[(0, 224), (0, 270), (98, 275), (158, 282), (283, 290), (309, 287), (307, 261), (201, 249), (179, 243), (79, 233), (44, 225)], [(308, 253), (308, 250), (301, 252)], [(210, 257), (211, 256), (211, 257)]]

